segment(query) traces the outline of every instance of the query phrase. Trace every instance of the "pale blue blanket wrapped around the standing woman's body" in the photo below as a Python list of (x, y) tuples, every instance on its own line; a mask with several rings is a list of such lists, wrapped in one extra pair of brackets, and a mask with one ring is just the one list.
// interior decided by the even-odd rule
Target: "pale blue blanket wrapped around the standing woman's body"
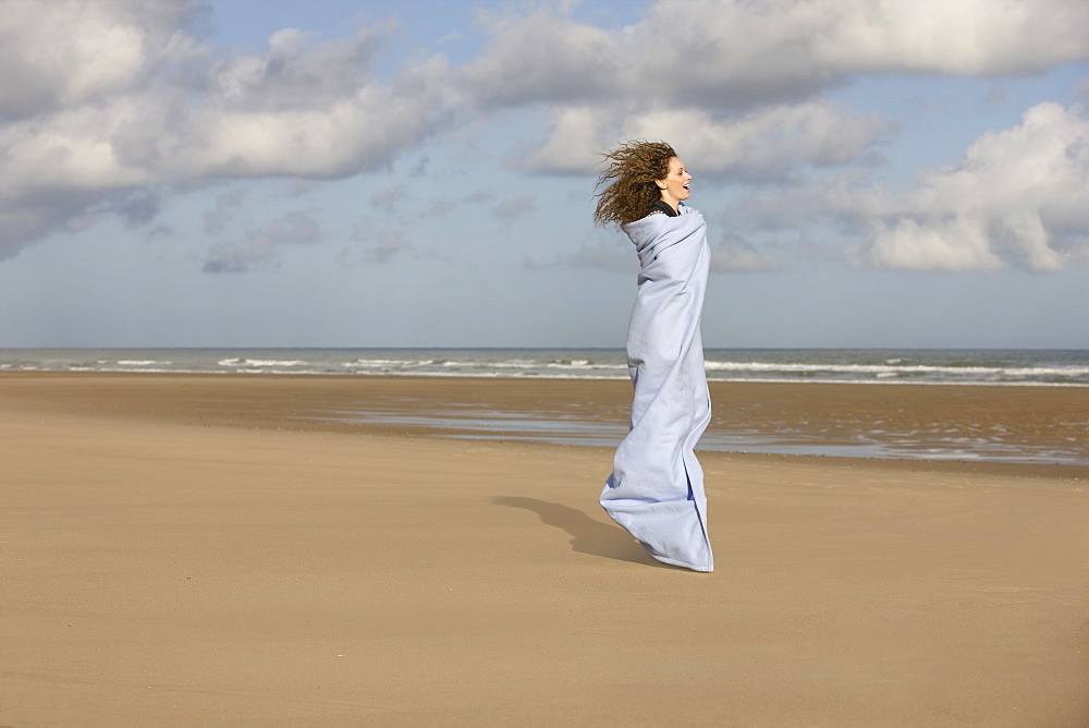
[(678, 211), (622, 228), (640, 267), (627, 333), (635, 397), (601, 506), (659, 561), (712, 571), (703, 471), (693, 451), (711, 418), (699, 332), (710, 252), (703, 216)]

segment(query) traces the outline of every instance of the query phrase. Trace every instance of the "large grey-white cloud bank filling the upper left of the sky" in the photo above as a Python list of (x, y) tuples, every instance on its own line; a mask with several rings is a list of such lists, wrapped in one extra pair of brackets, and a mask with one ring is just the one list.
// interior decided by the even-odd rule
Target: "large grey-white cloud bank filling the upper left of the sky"
[[(0, 257), (135, 189), (377, 169), (450, 113), (440, 60), (388, 85), (372, 77), (375, 28), (323, 43), (285, 29), (264, 54), (210, 64), (183, 32), (187, 3), (13, 7), (0, 33), (25, 39), (4, 46), (0, 63), (26, 83), (0, 92), (9, 114)], [(110, 53), (98, 53), (102, 41)], [(59, 49), (57, 58), (39, 58), (45, 49)]]

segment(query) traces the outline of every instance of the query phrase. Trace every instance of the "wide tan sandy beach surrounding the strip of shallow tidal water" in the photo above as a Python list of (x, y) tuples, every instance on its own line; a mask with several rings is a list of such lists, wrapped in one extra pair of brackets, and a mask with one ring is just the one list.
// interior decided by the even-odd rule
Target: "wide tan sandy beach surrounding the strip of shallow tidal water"
[[(0, 725), (1089, 725), (1087, 465), (701, 452), (697, 574), (600, 510), (610, 448), (314, 416), (623, 422), (629, 396), (0, 375)], [(941, 425), (1084, 448), (1089, 418), (1087, 388), (712, 397), (712, 427), (880, 420), (920, 447)]]

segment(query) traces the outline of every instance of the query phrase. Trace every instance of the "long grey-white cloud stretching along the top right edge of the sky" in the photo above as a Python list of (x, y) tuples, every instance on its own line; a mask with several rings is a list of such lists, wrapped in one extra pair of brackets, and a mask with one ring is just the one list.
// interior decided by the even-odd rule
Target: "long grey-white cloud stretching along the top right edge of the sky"
[(1089, 58), (1089, 3), (1069, 0), (660, 0), (615, 33), (547, 10), (485, 27), (491, 41), (460, 76), (486, 107), (743, 110), (855, 74), (1023, 74)]

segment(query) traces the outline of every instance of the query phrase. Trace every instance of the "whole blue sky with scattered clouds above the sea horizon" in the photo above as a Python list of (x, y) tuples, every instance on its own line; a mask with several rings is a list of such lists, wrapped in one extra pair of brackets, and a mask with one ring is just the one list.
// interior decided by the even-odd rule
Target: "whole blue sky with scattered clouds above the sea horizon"
[(0, 347), (623, 347), (646, 138), (707, 347), (1089, 349), (1089, 2), (0, 11)]

